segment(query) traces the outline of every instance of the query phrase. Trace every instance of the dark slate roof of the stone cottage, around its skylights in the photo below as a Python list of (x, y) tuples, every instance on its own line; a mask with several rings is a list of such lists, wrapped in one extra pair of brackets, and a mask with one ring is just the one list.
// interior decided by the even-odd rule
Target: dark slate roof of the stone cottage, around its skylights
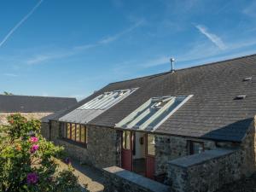
[[(244, 81), (247, 77), (252, 79)], [(135, 87), (131, 96), (88, 124), (114, 127), (153, 96), (194, 95), (155, 133), (241, 142), (256, 114), (256, 55), (108, 84), (74, 108), (105, 91)], [(247, 96), (234, 100), (237, 95)]]

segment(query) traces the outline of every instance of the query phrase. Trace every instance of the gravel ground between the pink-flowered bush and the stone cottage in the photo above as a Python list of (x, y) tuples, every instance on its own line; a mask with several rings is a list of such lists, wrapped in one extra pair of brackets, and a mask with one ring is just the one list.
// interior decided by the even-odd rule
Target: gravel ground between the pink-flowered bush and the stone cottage
[[(60, 165), (60, 169), (67, 169), (67, 165), (61, 160), (56, 160)], [(103, 176), (102, 172), (96, 170), (93, 167), (80, 165), (79, 161), (71, 160), (72, 166), (75, 169), (74, 175), (79, 177), (79, 183), (84, 186), (87, 185), (87, 189), (91, 192), (103, 191)], [(86, 191), (86, 190), (84, 190)]]

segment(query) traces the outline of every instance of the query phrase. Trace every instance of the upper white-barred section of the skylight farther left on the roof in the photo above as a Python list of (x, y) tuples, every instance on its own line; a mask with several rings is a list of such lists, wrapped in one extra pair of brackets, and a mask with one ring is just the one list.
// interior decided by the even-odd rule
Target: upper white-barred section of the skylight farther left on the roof
[(107, 108), (111, 108), (114, 104), (121, 101), (126, 96), (129, 96), (135, 90), (137, 89), (113, 90), (113, 91), (105, 92), (100, 96), (96, 96), (96, 98), (90, 100), (90, 102), (86, 102), (84, 105), (82, 105), (77, 109), (105, 110)]

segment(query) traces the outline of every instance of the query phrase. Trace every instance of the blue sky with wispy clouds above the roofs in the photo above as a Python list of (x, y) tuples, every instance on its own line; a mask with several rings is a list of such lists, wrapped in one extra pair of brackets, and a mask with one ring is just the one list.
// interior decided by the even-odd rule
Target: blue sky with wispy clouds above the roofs
[(0, 92), (76, 96), (256, 53), (256, 1), (1, 0)]

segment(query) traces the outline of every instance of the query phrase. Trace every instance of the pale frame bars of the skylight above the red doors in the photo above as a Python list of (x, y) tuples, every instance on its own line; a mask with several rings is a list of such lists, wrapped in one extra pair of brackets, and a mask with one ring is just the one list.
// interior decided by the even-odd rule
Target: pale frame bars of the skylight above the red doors
[[(175, 108), (173, 108), (173, 110), (170, 113), (168, 113), (166, 115), (166, 117), (161, 119), (157, 125), (154, 125), (152, 130), (148, 131), (148, 132), (154, 132), (160, 125), (162, 125), (166, 121), (166, 119), (170, 118), (173, 113), (175, 113), (179, 108), (181, 108), (185, 102), (188, 102), (192, 96), (193, 95), (152, 97), (147, 102), (144, 102), (142, 106), (140, 106), (135, 111), (130, 113), (128, 116), (126, 116), (125, 119), (122, 119), (121, 121), (119, 121), (119, 123), (117, 123), (115, 125), (115, 128), (120, 128), (120, 129), (125, 129), (125, 130), (148, 131), (148, 130), (146, 130), (148, 128), (148, 125), (150, 125), (155, 119), (157, 119), (160, 116), (160, 114), (164, 113), (166, 109), (171, 108), (172, 104), (175, 102), (175, 99), (177, 99), (178, 97), (185, 97), (182, 102), (180, 102)], [(145, 116), (143, 116), (143, 117), (140, 117), (140, 116), (143, 115), (143, 113), (145, 113), (149, 109), (148, 106), (151, 104), (151, 102), (157, 102), (157, 100), (163, 101), (165, 97), (166, 97), (166, 99), (171, 98), (171, 100), (169, 102), (167, 102), (165, 104), (165, 106), (160, 108), (156, 113), (154, 113), (149, 119), (147, 119), (145, 122), (143, 122), (142, 125), (139, 125), (139, 126), (136, 124), (134, 125), (134, 123), (133, 123), (134, 120), (136, 120), (136, 123), (138, 123), (140, 119), (143, 119), (143, 117), (145, 117)], [(156, 100), (156, 101), (154, 101), (154, 100)], [(146, 108), (148, 108), (148, 109), (146, 109)], [(137, 113), (140, 113), (143, 110), (145, 110), (145, 112), (143, 112), (137, 116)], [(136, 118), (136, 116), (137, 116), (137, 118)], [(138, 119), (138, 117), (140, 117), (140, 119)], [(131, 121), (131, 122), (128, 125), (125, 125), (129, 121)], [(131, 126), (131, 125), (133, 125), (133, 126)]]

